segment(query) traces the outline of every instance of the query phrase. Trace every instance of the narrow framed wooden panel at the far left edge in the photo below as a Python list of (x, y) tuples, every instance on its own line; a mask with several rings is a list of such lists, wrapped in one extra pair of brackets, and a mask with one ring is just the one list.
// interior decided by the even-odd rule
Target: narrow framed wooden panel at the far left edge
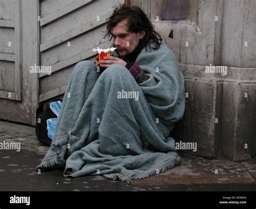
[(21, 101), (21, 0), (2, 0), (1, 3), (0, 98)]

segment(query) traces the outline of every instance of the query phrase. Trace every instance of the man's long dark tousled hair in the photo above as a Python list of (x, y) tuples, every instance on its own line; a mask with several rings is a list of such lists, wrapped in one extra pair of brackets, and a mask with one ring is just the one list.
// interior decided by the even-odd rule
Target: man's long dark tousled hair
[[(155, 44), (156, 47), (152, 47), (154, 50), (157, 50), (160, 47), (163, 39), (161, 39), (160, 34), (154, 30), (154, 26), (149, 18), (147, 18), (145, 12), (138, 6), (122, 5), (115, 8), (112, 15), (107, 18), (107, 31), (104, 38), (109, 37), (111, 40), (113, 38), (111, 34), (112, 28), (124, 19), (128, 20), (128, 28), (130, 32), (146, 32), (143, 39), (139, 40), (138, 51), (141, 51), (145, 46), (149, 45), (149, 43)], [(150, 45), (149, 47), (151, 49)]]

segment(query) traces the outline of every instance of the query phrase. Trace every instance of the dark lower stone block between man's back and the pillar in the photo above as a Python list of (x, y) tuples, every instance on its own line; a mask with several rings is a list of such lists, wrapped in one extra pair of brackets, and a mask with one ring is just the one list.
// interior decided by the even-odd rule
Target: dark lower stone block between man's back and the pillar
[[(216, 105), (214, 102), (214, 86), (210, 82), (200, 80), (186, 80), (186, 108), (183, 120), (177, 124), (179, 129), (178, 136), (173, 136), (176, 141), (196, 142), (197, 152), (193, 155), (214, 158), (214, 123), (213, 109)], [(206, 89), (206, 90), (202, 90)], [(201, 100), (204, 98), (204, 100)], [(174, 133), (173, 133), (174, 134)], [(191, 152), (191, 150), (187, 150)]]

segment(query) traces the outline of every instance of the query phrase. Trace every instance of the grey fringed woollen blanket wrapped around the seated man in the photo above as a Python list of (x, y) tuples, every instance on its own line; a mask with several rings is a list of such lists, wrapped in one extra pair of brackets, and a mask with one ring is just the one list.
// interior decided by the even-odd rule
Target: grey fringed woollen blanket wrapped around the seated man
[[(130, 181), (178, 164), (169, 135), (184, 114), (184, 76), (165, 44), (158, 50), (145, 47), (136, 63), (148, 76), (139, 84), (122, 65), (99, 74), (91, 61), (76, 64), (51, 147), (36, 170), (64, 168), (65, 177)], [(118, 98), (122, 90), (138, 92), (139, 99)]]

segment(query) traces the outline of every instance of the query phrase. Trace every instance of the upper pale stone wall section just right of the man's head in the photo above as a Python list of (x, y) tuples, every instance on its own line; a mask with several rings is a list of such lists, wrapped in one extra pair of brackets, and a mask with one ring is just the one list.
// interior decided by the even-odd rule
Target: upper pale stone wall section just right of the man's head
[[(141, 1), (131, 2), (132, 4), (136, 2), (136, 5), (138, 5), (138, 2)], [(149, 3), (150, 1), (144, 1), (143, 4), (146, 2)], [(151, 20), (156, 26), (156, 30), (160, 32), (165, 43), (176, 54), (179, 63), (207, 65), (213, 64), (215, 61), (219, 64), (223, 0), (172, 1), (172, 6), (170, 6), (170, 3), (166, 5), (166, 3), (165, 9), (161, 9), (162, 5), (157, 3), (149, 5), (144, 11), (152, 15)], [(187, 6), (189, 3), (193, 6)], [(152, 9), (153, 6), (156, 6), (156, 8)], [(155, 20), (156, 16), (160, 18), (172, 16), (173, 12), (171, 10), (175, 6), (182, 7), (188, 21), (181, 23), (181, 13), (180, 18), (177, 19), (178, 21), (166, 20), (162, 22)], [(158, 13), (156, 14), (155, 11)], [(195, 20), (190, 16), (196, 16), (197, 18)], [(215, 17), (218, 17), (218, 21), (215, 21)], [(171, 30), (173, 30), (173, 38), (169, 38)]]

